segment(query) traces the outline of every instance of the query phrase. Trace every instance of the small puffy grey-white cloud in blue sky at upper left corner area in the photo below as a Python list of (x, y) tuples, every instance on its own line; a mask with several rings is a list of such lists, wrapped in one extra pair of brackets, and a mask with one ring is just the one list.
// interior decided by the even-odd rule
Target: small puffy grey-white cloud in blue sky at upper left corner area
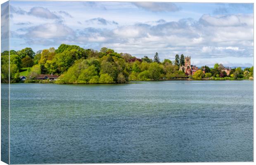
[(59, 19), (60, 17), (44, 7), (33, 7), (28, 12), (28, 15), (46, 18), (46, 19)]

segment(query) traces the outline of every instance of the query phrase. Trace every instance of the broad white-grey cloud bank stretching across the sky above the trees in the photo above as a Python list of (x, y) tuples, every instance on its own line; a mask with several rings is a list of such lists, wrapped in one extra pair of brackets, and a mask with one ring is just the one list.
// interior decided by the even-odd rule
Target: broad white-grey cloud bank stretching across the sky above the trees
[[(77, 21), (75, 23), (79, 25)], [(202, 60), (253, 57), (252, 14), (206, 14), (198, 20), (184, 18), (119, 26), (104, 18), (93, 18), (85, 23), (91, 27), (72, 30), (60, 22), (21, 28), (16, 32), (28, 44), (78, 44), (96, 50), (106, 46), (137, 57), (147, 55), (152, 58), (156, 51), (161, 59), (172, 59), (175, 54)], [(109, 24), (111, 28), (106, 28)], [(245, 62), (248, 63), (248, 59)]]

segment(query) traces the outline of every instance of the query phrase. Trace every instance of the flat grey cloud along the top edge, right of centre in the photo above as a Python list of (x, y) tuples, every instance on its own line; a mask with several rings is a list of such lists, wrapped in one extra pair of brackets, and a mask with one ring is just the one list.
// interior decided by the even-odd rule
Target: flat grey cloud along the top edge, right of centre
[(146, 9), (153, 12), (161, 11), (179, 11), (180, 8), (174, 3), (170, 2), (133, 2), (133, 4), (139, 8)]

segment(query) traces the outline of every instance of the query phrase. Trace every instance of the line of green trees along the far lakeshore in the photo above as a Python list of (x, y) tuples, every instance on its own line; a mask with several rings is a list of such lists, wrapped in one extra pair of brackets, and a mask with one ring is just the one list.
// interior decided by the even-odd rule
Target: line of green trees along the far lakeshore
[[(10, 56), (9, 56), (10, 54)], [(33, 52), (31, 48), (10, 50), (1, 53), (1, 82), (8, 82), (10, 57), (10, 82), (20, 82), (21, 71), (27, 70), (27, 80), (31, 82), (40, 74), (59, 75), (56, 83), (125, 83), (129, 80), (159, 80), (188, 78), (179, 70), (185, 64), (184, 55), (176, 55), (175, 61), (160, 61), (156, 52), (154, 59), (147, 56), (134, 57), (128, 53), (117, 53), (103, 47), (100, 51), (84, 49), (76, 45), (61, 44), (56, 50), (49, 48)], [(232, 69), (227, 75), (222, 64), (214, 68), (202, 66), (192, 78), (241, 79), (253, 77), (253, 67), (242, 70)], [(205, 73), (203, 73), (203, 71)], [(225, 72), (225, 73), (224, 73)]]

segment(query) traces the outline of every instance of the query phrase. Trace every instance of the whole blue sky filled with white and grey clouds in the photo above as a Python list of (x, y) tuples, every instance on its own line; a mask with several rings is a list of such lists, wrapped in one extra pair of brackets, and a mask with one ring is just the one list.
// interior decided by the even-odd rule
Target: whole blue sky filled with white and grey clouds
[(10, 1), (10, 49), (60, 44), (193, 65), (253, 66), (253, 4)]

